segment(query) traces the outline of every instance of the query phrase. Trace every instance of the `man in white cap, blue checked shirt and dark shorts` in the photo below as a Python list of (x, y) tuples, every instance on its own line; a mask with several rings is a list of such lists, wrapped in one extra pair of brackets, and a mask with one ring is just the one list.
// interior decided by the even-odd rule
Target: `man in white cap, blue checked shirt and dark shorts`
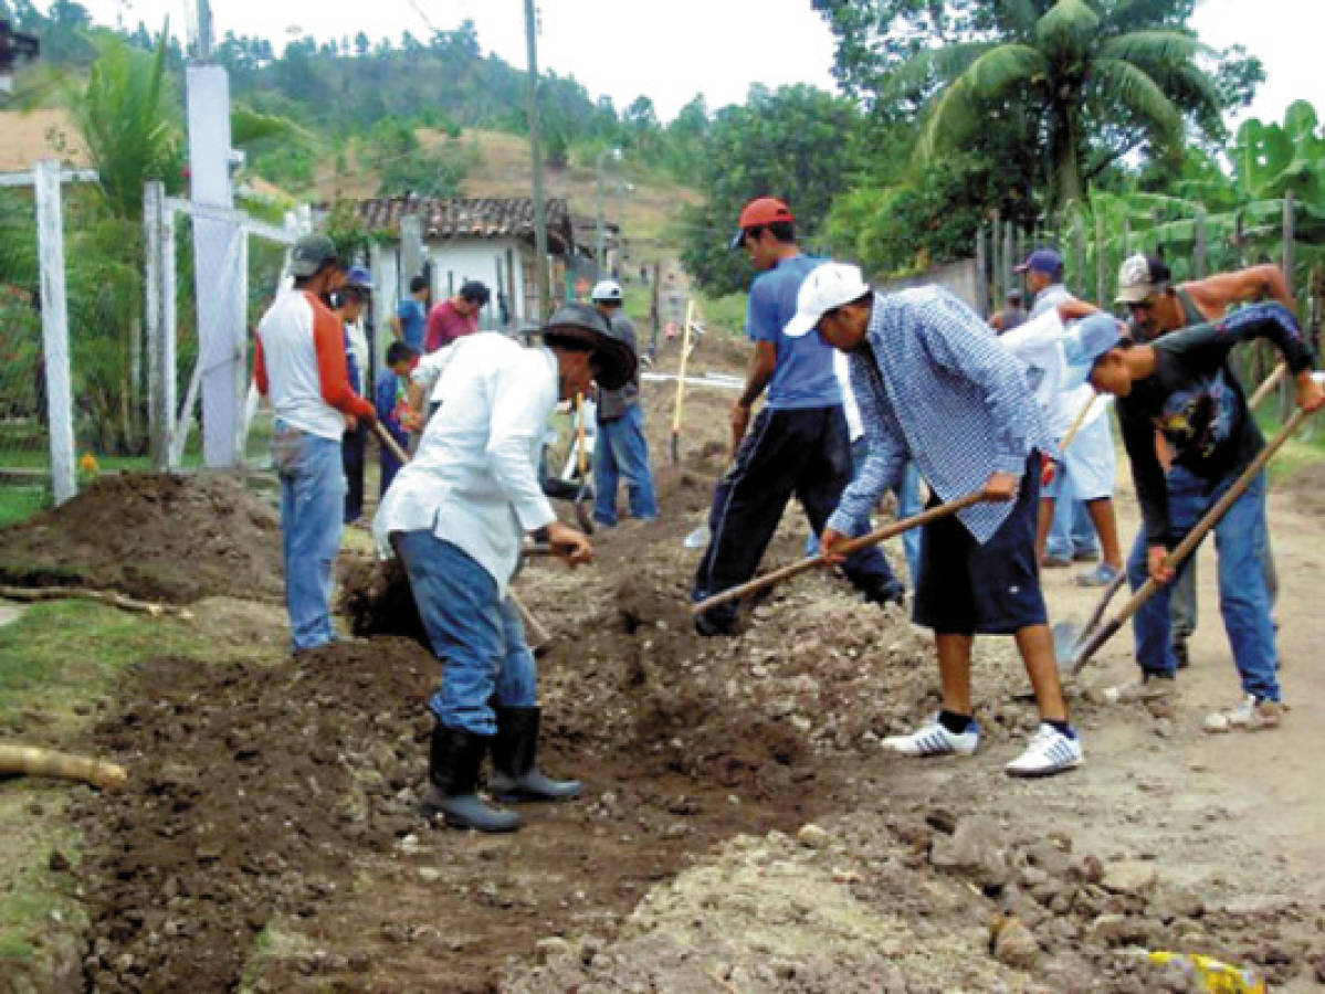
[[(934, 630), (943, 684), (939, 713), (886, 739), (905, 756), (970, 756), (979, 744), (971, 703), (974, 635), (1012, 635), (1040, 707), (1040, 728), (1006, 766), (1041, 777), (1079, 766), (1035, 561), (1040, 454), (1053, 441), (1022, 364), (966, 304), (941, 287), (876, 294), (856, 266), (828, 263), (800, 287), (784, 335), (816, 330), (847, 353), (869, 453), (820, 539), (824, 556), (897, 482), (913, 458), (931, 506), (979, 492), (983, 502), (921, 533), (914, 619)], [(837, 553), (840, 556), (840, 552)]]

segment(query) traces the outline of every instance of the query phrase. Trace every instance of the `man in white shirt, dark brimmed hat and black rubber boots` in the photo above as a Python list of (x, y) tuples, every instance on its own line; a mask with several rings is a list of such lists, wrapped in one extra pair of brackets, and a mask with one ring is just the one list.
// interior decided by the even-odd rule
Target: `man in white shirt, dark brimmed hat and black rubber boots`
[(543, 428), (558, 398), (594, 381), (616, 389), (635, 375), (635, 351), (586, 304), (556, 310), (542, 348), (498, 332), (449, 347), (447, 402), (429, 420), (415, 459), (396, 475), (374, 532), (409, 577), (419, 617), (441, 660), (428, 701), (437, 719), (424, 814), (480, 831), (511, 831), (519, 815), (478, 797), (478, 768), (493, 757), (500, 799), (575, 797), (576, 781), (538, 772), (537, 670), (507, 584), (526, 533), (571, 565), (594, 556), (560, 524), (538, 480)]

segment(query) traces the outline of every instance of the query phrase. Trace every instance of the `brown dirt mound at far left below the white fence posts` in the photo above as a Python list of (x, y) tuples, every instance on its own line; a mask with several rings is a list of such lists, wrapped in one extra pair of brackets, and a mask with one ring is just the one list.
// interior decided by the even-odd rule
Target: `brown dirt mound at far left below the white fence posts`
[(284, 592), (280, 523), (235, 476), (105, 476), (0, 532), (0, 578), (170, 604), (212, 594), (276, 600)]

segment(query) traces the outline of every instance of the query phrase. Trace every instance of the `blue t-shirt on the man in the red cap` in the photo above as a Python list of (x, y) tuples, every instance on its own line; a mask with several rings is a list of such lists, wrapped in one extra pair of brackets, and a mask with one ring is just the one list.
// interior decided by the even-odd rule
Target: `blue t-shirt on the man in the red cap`
[(796, 314), (796, 294), (810, 271), (827, 259), (794, 255), (761, 273), (750, 283), (746, 334), (755, 341), (771, 341), (778, 365), (768, 383), (767, 405), (775, 410), (829, 408), (841, 404), (841, 388), (832, 369), (832, 345), (818, 334), (788, 339), (782, 334)]

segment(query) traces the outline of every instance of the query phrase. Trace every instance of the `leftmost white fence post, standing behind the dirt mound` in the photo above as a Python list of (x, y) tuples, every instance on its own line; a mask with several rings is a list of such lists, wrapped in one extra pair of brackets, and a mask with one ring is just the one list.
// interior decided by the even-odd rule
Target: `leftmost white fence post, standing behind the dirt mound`
[(46, 414), (50, 425), (50, 486), (56, 504), (78, 492), (74, 475), (73, 389), (69, 381), (69, 303), (65, 295), (65, 234), (60, 163), (33, 169), (37, 195), (37, 251), (41, 259), (41, 343), (45, 353)]

